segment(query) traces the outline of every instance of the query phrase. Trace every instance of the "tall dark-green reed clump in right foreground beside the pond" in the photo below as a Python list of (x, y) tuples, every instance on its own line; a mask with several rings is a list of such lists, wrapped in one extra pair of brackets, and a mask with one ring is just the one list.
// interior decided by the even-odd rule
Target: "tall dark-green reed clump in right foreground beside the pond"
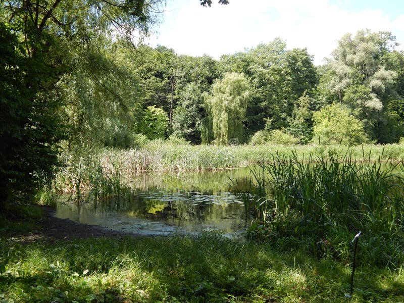
[(349, 239), (362, 231), (361, 256), (379, 266), (404, 261), (404, 163), (370, 155), (326, 157), (274, 154), (251, 170), (250, 189), (239, 191), (254, 206), (247, 235), (271, 239), (281, 249), (306, 249), (348, 261)]

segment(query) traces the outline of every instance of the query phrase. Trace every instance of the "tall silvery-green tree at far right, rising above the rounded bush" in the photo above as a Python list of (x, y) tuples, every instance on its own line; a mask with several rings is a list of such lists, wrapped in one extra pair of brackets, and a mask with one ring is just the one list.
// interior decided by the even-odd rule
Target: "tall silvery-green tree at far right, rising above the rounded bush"
[(394, 41), (388, 32), (344, 35), (332, 53), (334, 60), (323, 68), (319, 86), (322, 98), (348, 106), (363, 122), (367, 136), (381, 143), (398, 138), (395, 133), (386, 136), (385, 131), (394, 124), (394, 114), (390, 117), (386, 105), (402, 81), (403, 61), (394, 51)]

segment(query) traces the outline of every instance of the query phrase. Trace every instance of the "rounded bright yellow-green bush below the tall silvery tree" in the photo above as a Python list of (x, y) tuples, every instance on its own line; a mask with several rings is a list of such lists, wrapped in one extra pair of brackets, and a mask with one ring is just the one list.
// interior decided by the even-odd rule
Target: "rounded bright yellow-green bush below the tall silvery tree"
[(340, 104), (327, 106), (313, 114), (313, 142), (322, 145), (357, 145), (369, 141), (363, 124)]

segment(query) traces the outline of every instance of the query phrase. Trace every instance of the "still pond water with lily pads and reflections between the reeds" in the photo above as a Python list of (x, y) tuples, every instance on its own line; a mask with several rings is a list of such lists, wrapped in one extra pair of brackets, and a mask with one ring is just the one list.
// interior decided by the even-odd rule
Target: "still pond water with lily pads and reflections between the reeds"
[(238, 236), (245, 226), (244, 207), (232, 180), (242, 182), (248, 168), (203, 173), (139, 173), (121, 183), (125, 199), (73, 202), (61, 195), (56, 216), (89, 225), (143, 235), (190, 234), (218, 230)]

